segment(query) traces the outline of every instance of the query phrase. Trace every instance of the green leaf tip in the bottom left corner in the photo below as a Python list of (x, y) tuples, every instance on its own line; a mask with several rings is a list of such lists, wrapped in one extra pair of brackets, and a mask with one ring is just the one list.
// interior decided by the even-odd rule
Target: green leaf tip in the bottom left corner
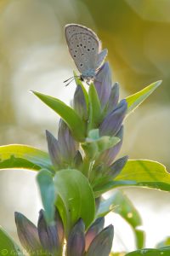
[(0, 253), (1, 255), (24, 255), (20, 247), (8, 236), (8, 234), (0, 226)]

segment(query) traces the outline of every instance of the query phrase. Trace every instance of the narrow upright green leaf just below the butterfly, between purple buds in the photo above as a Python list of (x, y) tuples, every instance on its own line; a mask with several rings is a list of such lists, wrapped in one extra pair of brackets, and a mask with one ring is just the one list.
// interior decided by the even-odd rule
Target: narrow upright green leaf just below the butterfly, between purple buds
[(98, 127), (101, 121), (101, 106), (99, 102), (98, 93), (94, 87), (94, 84), (90, 84), (88, 90), (89, 96), (89, 121), (88, 131)]

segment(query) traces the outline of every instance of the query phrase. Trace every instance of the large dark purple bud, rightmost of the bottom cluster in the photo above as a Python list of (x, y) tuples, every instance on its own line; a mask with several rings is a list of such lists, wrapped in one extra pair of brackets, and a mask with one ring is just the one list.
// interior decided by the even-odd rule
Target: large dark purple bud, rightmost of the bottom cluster
[(113, 241), (113, 225), (109, 225), (94, 238), (88, 247), (86, 256), (109, 256)]

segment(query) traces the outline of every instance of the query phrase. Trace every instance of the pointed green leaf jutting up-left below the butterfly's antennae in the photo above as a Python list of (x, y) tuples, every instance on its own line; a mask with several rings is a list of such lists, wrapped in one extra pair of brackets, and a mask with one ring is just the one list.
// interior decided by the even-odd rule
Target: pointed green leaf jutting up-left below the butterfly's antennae
[(67, 106), (64, 102), (59, 101), (52, 96), (47, 96), (42, 93), (32, 91), (42, 102), (52, 108), (60, 117), (65, 121), (68, 127), (71, 129), (72, 136), (77, 141), (82, 142), (85, 137), (85, 125), (82, 123), (82, 119), (74, 111), (74, 109)]

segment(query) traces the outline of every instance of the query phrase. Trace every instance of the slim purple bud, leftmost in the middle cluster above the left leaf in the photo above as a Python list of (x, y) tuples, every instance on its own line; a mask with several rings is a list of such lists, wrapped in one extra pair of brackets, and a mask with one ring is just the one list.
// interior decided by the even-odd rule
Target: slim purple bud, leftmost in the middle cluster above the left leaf
[(49, 131), (46, 131), (46, 137), (48, 141), (48, 153), (50, 159), (54, 167), (59, 168), (62, 163), (62, 156), (59, 150), (59, 142)]

